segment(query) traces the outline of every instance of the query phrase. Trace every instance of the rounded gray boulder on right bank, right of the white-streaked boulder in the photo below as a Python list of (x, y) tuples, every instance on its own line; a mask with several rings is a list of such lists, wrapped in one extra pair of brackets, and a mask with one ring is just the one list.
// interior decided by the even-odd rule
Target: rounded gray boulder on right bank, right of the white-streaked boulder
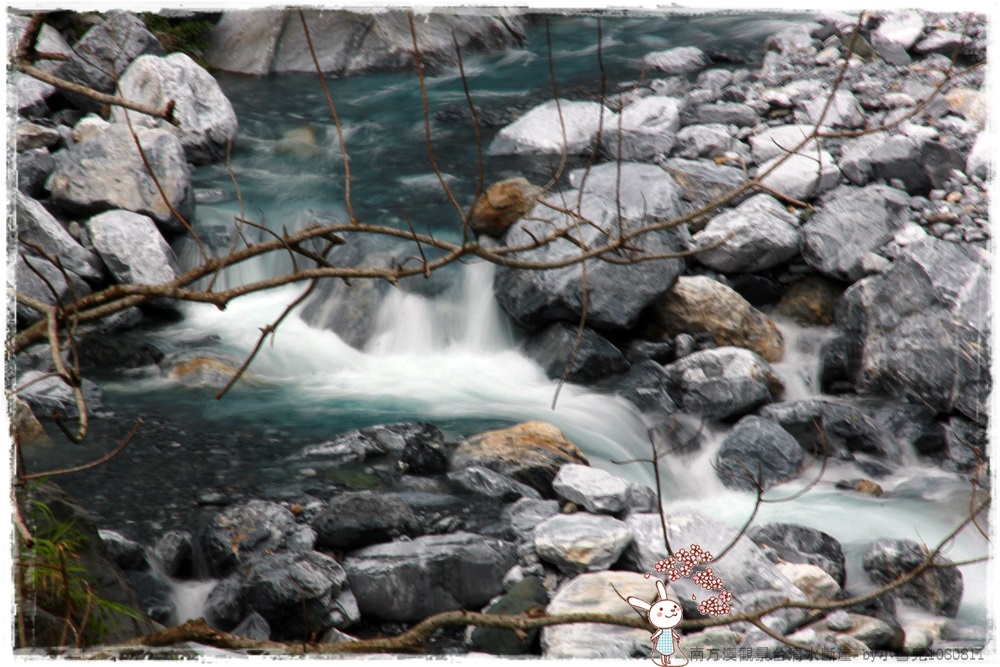
[(863, 278), (862, 260), (901, 229), (909, 217), (906, 193), (884, 185), (832, 192), (802, 226), (802, 256), (831, 278)]

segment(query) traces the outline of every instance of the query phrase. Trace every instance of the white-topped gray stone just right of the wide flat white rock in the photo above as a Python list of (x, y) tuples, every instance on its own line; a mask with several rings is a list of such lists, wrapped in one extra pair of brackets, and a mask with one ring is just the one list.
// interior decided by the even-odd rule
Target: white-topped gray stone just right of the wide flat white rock
[(667, 155), (680, 128), (677, 100), (652, 95), (626, 106), (601, 130), (601, 155), (609, 160), (644, 162)]

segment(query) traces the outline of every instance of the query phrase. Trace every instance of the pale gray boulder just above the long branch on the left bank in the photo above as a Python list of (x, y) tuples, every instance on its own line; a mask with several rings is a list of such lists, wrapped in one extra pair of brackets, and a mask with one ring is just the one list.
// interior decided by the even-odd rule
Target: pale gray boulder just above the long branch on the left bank
[(174, 251), (146, 216), (108, 211), (87, 220), (86, 227), (94, 250), (119, 283), (163, 285), (177, 278)]

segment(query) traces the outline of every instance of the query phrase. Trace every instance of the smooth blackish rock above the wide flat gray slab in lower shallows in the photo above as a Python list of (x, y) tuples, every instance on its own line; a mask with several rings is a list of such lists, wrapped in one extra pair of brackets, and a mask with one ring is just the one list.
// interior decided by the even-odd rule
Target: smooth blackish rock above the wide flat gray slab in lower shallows
[(333, 496), (311, 522), (316, 544), (351, 551), (421, 534), (416, 512), (398, 497), (375, 491), (349, 491)]

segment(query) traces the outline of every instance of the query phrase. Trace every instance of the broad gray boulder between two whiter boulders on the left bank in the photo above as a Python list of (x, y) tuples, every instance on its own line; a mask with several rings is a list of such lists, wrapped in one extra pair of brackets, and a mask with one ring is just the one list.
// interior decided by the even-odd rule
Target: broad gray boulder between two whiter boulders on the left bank
[[(170, 205), (190, 220), (194, 190), (180, 141), (167, 130), (137, 128), (136, 135)], [(49, 177), (48, 187), (53, 201), (70, 211), (123, 209), (148, 215), (167, 232), (184, 231), (147, 172), (131, 133), (121, 125), (70, 148)]]

